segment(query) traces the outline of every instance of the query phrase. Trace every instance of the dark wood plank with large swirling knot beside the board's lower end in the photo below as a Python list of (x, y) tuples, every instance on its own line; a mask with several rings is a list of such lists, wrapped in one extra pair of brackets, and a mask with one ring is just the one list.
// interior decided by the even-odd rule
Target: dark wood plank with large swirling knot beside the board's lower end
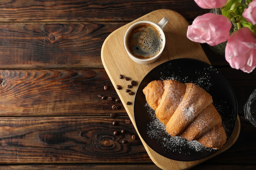
[[(125, 119), (2, 117), (0, 162), (152, 163), (132, 124), (127, 124)], [(118, 123), (116, 126), (112, 125), (114, 120)], [(114, 135), (114, 131), (119, 134)], [(123, 144), (123, 140), (127, 143)]]

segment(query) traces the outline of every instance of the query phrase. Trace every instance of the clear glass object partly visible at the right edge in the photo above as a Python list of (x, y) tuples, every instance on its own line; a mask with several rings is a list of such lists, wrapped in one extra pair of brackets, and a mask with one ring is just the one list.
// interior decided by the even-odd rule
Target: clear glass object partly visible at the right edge
[(247, 99), (244, 106), (245, 119), (256, 127), (256, 89)]

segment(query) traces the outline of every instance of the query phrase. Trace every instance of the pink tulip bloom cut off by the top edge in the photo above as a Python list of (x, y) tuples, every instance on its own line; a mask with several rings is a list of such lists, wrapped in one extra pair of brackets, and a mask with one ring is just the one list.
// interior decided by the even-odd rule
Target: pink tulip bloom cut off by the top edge
[(195, 0), (195, 3), (203, 9), (221, 8), (228, 0)]

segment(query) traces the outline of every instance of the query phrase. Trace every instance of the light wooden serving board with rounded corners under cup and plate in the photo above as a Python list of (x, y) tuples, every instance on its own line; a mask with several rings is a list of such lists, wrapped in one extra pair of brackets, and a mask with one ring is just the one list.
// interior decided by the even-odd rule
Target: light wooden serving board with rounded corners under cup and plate
[[(164, 27), (164, 33), (166, 35), (166, 46), (161, 58), (156, 62), (147, 65), (137, 64), (136, 62), (132, 61), (124, 48), (124, 34), (128, 27), (133, 23), (141, 20), (148, 20), (158, 23), (163, 17), (168, 18), (169, 22)], [(130, 84), (131, 80), (135, 80), (137, 82), (137, 86), (130, 88), (132, 92), (136, 93), (138, 85), (145, 77), (145, 75), (153, 68), (155, 68), (155, 66), (158, 66), (159, 64), (162, 64), (168, 60), (177, 58), (194, 58), (210, 64), (201, 45), (186, 38), (186, 30), (188, 25), (189, 24), (186, 19), (179, 13), (168, 9), (159, 9), (150, 12), (138, 18), (137, 20), (134, 20), (115, 30), (106, 38), (102, 45), (101, 60), (103, 66), (106, 69), (106, 72), (110, 77), (110, 80), (114, 85), (117, 94), (119, 95), (121, 102), (124, 105), (124, 108), (126, 109), (136, 130), (137, 128), (133, 116), (133, 101), (135, 95), (128, 95), (128, 93), (125, 92), (125, 89), (127, 88), (127, 85)], [(125, 79), (120, 79), (120, 74), (129, 77), (130, 80), (126, 81)], [(118, 90), (116, 88), (117, 85), (121, 86), (122, 89)], [(132, 104), (127, 105), (126, 102), (128, 101), (132, 102)], [(162, 168), (163, 170), (185, 170), (192, 168), (193, 166), (198, 165), (199, 163), (202, 163), (203, 161), (206, 161), (207, 159), (210, 159), (211, 157), (214, 157), (230, 148), (238, 138), (239, 132), (240, 120), (239, 117), (237, 117), (237, 123), (234, 132), (232, 133), (229, 141), (222, 149), (218, 150), (218, 152), (211, 155), (210, 157), (197, 161), (175, 161), (163, 157), (152, 150), (141, 138), (137, 130), (137, 133), (144, 147), (146, 148), (149, 157), (159, 168)]]

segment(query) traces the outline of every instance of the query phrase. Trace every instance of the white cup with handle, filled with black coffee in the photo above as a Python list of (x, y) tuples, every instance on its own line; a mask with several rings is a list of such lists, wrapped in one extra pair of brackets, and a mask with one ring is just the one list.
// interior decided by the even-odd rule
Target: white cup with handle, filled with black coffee
[(162, 55), (166, 43), (163, 28), (168, 19), (158, 24), (139, 21), (132, 24), (124, 35), (124, 47), (129, 57), (139, 64), (150, 64)]

